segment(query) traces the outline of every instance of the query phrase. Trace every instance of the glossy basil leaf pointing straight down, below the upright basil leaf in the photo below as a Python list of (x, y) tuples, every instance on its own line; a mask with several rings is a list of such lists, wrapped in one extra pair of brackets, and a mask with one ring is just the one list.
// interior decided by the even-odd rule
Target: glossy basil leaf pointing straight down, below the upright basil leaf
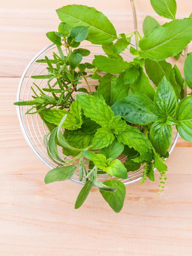
[(172, 126), (156, 121), (150, 128), (150, 141), (160, 156), (164, 156), (171, 144)]

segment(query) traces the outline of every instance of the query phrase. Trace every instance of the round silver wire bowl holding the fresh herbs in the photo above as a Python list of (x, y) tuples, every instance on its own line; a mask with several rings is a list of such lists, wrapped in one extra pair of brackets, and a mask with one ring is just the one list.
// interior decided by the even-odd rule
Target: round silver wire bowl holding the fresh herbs
[[(135, 46), (133, 43), (131, 45)], [(94, 59), (94, 55), (106, 55), (104, 51), (102, 50), (102, 47), (100, 45), (80, 45), (79, 47), (83, 47), (85, 49), (88, 49), (91, 51), (91, 54), (88, 57), (83, 57), (82, 63), (84, 62), (92, 62)], [(65, 49), (63, 50), (65, 54)], [(48, 84), (46, 83), (46, 79), (32, 79), (32, 75), (39, 75), (39, 74), (47, 74), (47, 64), (46, 63), (37, 63), (36, 60), (44, 59), (44, 56), (48, 56), (49, 58), (53, 56), (53, 52), (58, 53), (56, 45), (50, 44), (47, 47), (45, 47), (43, 50), (41, 50), (28, 64), (26, 67), (24, 73), (22, 74), (19, 88), (16, 96), (16, 101), (27, 101), (32, 100), (32, 95), (34, 95), (33, 91), (31, 90), (31, 86), (33, 85), (33, 82), (35, 82), (40, 88), (46, 88)], [(130, 61), (133, 57), (129, 53), (129, 48), (127, 48), (122, 54), (122, 57), (126, 61)], [(88, 71), (89, 72), (89, 71)], [(96, 80), (93, 80), (92, 78), (89, 79), (89, 84), (91, 85), (91, 89), (94, 90), (96, 84)], [(86, 88), (87, 85), (84, 80), (81, 80), (83, 83), (79, 84), (78, 88), (84, 87)], [(151, 82), (151, 81), (150, 81)], [(152, 82), (151, 82), (152, 83)], [(153, 83), (152, 83), (153, 84)], [(34, 88), (35, 89), (35, 88)], [(35, 89), (37, 90), (37, 88)], [(49, 93), (47, 93), (49, 94)], [(73, 97), (76, 95), (74, 94)], [(21, 126), (21, 130), (24, 134), (24, 137), (29, 144), (29, 146), (33, 149), (34, 153), (50, 168), (53, 169), (55, 167), (58, 167), (57, 164), (52, 161), (46, 151), (46, 148), (43, 143), (43, 136), (48, 133), (47, 127), (44, 125), (43, 121), (39, 117), (38, 114), (27, 114), (25, 115), (26, 111), (31, 108), (31, 106), (16, 106), (17, 114)], [(33, 110), (32, 110), (33, 111)], [(34, 109), (35, 111), (35, 109)], [(169, 154), (171, 154), (177, 139), (178, 139), (178, 132), (174, 133), (176, 136), (172, 139), (172, 144), (169, 149)], [(68, 156), (65, 156), (62, 153), (62, 148), (58, 147), (59, 149), (59, 155), (62, 159), (70, 160), (71, 158)], [(120, 156), (119, 159), (124, 162), (125, 156)], [(73, 164), (77, 164), (76, 161), (73, 162)], [(89, 166), (85, 165), (86, 169), (89, 170)], [(155, 170), (155, 168), (154, 168)], [(140, 179), (142, 179), (142, 171), (143, 168), (140, 168), (137, 171), (134, 172), (128, 172), (127, 179), (119, 179), (122, 181), (125, 185), (130, 184), (133, 182), (136, 182)], [(110, 179), (110, 176), (108, 174), (98, 174), (98, 180), (103, 182), (108, 179)], [(116, 177), (113, 177), (116, 178)], [(79, 181), (79, 175), (78, 175), (78, 168), (73, 174), (73, 176), (70, 178), (72, 181), (84, 184), (85, 178), (80, 182)]]

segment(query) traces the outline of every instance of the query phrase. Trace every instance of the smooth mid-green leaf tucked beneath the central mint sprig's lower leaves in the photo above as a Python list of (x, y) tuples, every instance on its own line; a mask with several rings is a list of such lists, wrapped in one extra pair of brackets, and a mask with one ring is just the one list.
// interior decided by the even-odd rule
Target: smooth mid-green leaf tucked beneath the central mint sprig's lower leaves
[(114, 141), (108, 147), (101, 148), (100, 152), (101, 154), (106, 156), (107, 159), (108, 158), (115, 159), (123, 152), (123, 149), (124, 149), (124, 144), (120, 143), (117, 140), (117, 138), (115, 138)]

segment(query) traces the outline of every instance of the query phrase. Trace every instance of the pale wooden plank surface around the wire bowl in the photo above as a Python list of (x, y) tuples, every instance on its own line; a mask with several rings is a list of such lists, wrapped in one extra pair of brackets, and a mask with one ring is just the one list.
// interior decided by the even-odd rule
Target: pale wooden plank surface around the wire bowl
[[(74, 210), (80, 184), (44, 184), (48, 168), (27, 145), (12, 103), (26, 65), (50, 43), (45, 33), (59, 24), (55, 9), (68, 1), (0, 2), (0, 255), (192, 255), (192, 144), (181, 138), (167, 160), (161, 195), (158, 174), (154, 183), (128, 185), (118, 214), (97, 189)], [(140, 29), (146, 15), (164, 22), (149, 0), (135, 2)], [(103, 11), (118, 33), (133, 30), (129, 0), (70, 3)], [(192, 1), (177, 0), (177, 6), (177, 18), (190, 15)], [(177, 64), (182, 68), (182, 59)]]

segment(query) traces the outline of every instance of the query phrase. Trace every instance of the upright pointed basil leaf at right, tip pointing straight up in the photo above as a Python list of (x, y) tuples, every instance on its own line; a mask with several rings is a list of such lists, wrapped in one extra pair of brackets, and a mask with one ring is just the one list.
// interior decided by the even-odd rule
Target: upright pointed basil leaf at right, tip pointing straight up
[(154, 97), (154, 105), (159, 115), (173, 117), (177, 109), (177, 97), (171, 84), (164, 77), (159, 83)]

